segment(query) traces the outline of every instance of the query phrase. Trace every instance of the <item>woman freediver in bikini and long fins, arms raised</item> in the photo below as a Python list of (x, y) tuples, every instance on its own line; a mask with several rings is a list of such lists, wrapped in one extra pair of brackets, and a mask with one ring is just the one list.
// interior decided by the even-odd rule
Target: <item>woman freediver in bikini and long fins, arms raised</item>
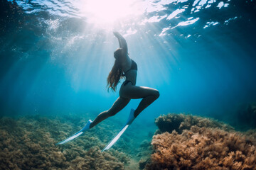
[[(115, 61), (110, 71), (110, 74), (107, 77), (107, 86), (108, 90), (112, 89), (113, 91), (116, 91), (119, 80), (125, 78), (125, 81), (122, 83), (122, 86), (119, 90), (119, 98), (117, 98), (117, 100), (114, 101), (114, 104), (109, 110), (103, 111), (102, 113), (97, 115), (97, 117), (93, 121), (88, 120), (87, 124), (84, 128), (82, 128), (82, 130), (75, 133), (75, 135), (73, 135), (72, 137), (69, 137), (68, 139), (63, 140), (62, 142), (59, 142), (58, 144), (64, 144), (65, 142), (69, 142), (70, 140), (75, 139), (75, 137), (82, 135), (83, 132), (89, 130), (90, 128), (95, 127), (95, 125), (102, 122), (102, 120), (105, 120), (106, 118), (109, 118), (110, 116), (117, 114), (125, 106), (127, 106), (131, 99), (142, 98), (142, 101), (139, 103), (139, 106), (135, 110), (131, 109), (127, 123), (124, 125), (124, 128), (120, 130), (120, 132), (123, 133), (124, 130), (126, 130), (126, 128), (128, 128), (129, 125), (131, 125), (133, 120), (137, 118), (139, 113), (141, 113), (146, 107), (148, 107), (157, 98), (159, 98), (159, 91), (157, 91), (156, 89), (144, 86), (136, 86), (137, 64), (128, 55), (127, 42), (124, 39), (124, 37), (118, 32), (113, 33), (119, 42), (119, 48), (114, 51)], [(120, 132), (120, 135), (118, 134), (119, 137), (122, 135), (122, 133)], [(116, 142), (119, 137), (117, 137), (117, 139), (114, 142)], [(113, 144), (114, 143), (110, 145), (112, 146)], [(103, 149), (102, 151), (104, 150), (105, 149)]]

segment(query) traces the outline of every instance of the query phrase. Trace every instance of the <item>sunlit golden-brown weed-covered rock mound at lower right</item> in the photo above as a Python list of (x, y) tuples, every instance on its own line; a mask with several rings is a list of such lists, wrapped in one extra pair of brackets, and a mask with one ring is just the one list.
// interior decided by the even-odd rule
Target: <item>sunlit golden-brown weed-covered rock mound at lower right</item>
[(245, 135), (192, 115), (160, 116), (157, 125), (159, 120), (165, 125), (153, 137), (154, 153), (145, 169), (256, 169), (255, 131)]

